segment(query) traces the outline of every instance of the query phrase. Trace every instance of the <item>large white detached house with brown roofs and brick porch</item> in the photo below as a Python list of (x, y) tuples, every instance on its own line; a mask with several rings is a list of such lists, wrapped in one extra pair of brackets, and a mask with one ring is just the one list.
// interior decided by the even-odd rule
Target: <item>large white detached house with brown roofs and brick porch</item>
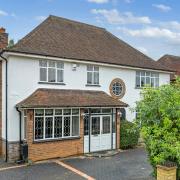
[(105, 29), (56, 16), (0, 56), (8, 161), (22, 158), (24, 144), (32, 161), (119, 148), (120, 118), (135, 118), (140, 89), (169, 83), (171, 74)]

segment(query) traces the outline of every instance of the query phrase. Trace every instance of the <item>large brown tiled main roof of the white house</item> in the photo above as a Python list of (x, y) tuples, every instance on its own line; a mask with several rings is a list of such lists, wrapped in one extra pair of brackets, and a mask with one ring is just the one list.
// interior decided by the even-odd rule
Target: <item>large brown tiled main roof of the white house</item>
[(9, 51), (170, 71), (103, 28), (56, 16)]

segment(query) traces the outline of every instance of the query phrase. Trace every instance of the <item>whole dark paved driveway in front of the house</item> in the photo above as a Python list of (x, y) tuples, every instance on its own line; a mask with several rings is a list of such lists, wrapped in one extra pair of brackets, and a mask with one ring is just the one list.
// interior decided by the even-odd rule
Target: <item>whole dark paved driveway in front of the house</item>
[[(65, 164), (63, 167), (61, 164)], [(66, 167), (67, 166), (67, 167)], [(68, 167), (70, 167), (68, 169)], [(72, 168), (73, 167), (73, 168)], [(73, 172), (72, 169), (75, 169)], [(97, 180), (152, 180), (151, 166), (142, 148), (106, 158), (72, 158), (0, 171), (0, 180), (81, 180), (77, 171)]]

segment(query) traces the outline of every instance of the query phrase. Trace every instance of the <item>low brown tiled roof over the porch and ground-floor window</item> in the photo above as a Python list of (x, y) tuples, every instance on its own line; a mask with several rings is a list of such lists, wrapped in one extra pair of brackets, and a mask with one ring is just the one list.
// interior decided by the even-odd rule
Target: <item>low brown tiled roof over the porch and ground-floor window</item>
[(126, 107), (103, 91), (37, 89), (16, 105), (19, 108), (37, 107)]

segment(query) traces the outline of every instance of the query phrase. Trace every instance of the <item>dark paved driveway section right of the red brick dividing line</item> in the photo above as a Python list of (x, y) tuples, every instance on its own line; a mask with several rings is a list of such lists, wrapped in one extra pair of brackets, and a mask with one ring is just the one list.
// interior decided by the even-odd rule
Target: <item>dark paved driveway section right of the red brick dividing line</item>
[(128, 150), (108, 158), (64, 161), (98, 180), (150, 180), (152, 168), (143, 148)]

